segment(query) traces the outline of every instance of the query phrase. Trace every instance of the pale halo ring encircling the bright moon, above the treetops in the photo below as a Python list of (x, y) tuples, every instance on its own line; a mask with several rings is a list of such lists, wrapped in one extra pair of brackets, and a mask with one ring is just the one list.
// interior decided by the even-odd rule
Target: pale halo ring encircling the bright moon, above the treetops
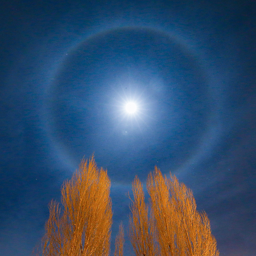
[[(60, 139), (58, 134), (56, 134), (55, 127), (54, 127), (55, 121), (54, 121), (54, 117), (52, 115), (52, 109), (51, 109), (52, 106), (49, 106), (49, 100), (50, 100), (50, 102), (52, 100), (54, 101), (54, 96), (51, 95), (52, 91), (57, 90), (58, 96), (60, 96), (60, 95), (63, 96), (63, 93), (58, 92), (58, 89), (60, 88), (60, 86), (59, 86), (59, 84), (57, 85), (55, 81), (60, 79), (60, 75), (63, 74), (63, 72), (66, 72), (66, 73), (72, 72), (70, 70), (65, 70), (65, 66), (68, 63), (70, 63), (70, 61), (71, 61), (70, 58), (72, 59), (73, 55), (76, 55), (76, 59), (79, 58), (79, 56), (78, 56), (79, 49), (82, 49), (83, 47), (86, 47), (86, 45), (90, 45), (91, 43), (97, 43), (97, 40), (99, 40), (99, 39), (103, 40), (103, 38), (105, 36), (108, 36), (111, 33), (115, 34), (115, 33), (119, 33), (120, 31), (123, 33), (124, 30), (127, 30), (127, 31), (136, 30), (136, 33), (137, 33), (139, 29), (144, 30), (145, 34), (152, 33), (152, 34), (162, 35), (163, 38), (164, 37), (166, 38), (167, 44), (174, 43), (175, 45), (178, 45), (177, 47), (180, 47), (181, 53), (183, 55), (186, 55), (186, 54), (190, 55), (189, 58), (193, 59), (194, 64), (198, 66), (198, 69), (203, 70), (203, 72), (201, 74), (201, 79), (202, 79), (202, 77), (204, 77), (204, 79), (205, 79), (204, 84), (208, 87), (207, 88), (207, 94), (208, 94), (207, 95), (208, 96), (207, 104), (209, 105), (209, 108), (208, 108), (208, 117), (206, 117), (204, 120), (205, 129), (204, 129), (204, 131), (202, 131), (199, 134), (200, 136), (198, 136), (197, 144), (194, 145), (193, 150), (189, 150), (187, 156), (183, 158), (183, 161), (180, 162), (180, 164), (175, 167), (176, 170), (186, 172), (189, 169), (189, 166), (191, 165), (192, 162), (196, 163), (197, 161), (201, 161), (204, 157), (207, 157), (207, 155), (210, 154), (211, 150), (213, 149), (214, 145), (216, 144), (216, 141), (218, 140), (218, 138), (220, 136), (220, 125), (218, 122), (216, 123), (216, 109), (218, 107), (216, 106), (217, 103), (214, 102), (214, 98), (216, 98), (216, 94), (218, 94), (218, 92), (214, 91), (212, 89), (213, 81), (211, 80), (212, 78), (211, 78), (210, 72), (208, 70), (209, 67), (207, 67), (206, 65), (204, 66), (204, 64), (202, 64), (200, 62), (200, 57), (196, 56), (195, 52), (190, 51), (189, 46), (186, 44), (186, 41), (185, 40), (181, 41), (181, 40), (179, 40), (179, 37), (175, 37), (175, 36), (172, 36), (172, 38), (170, 38), (170, 34), (168, 32), (157, 30), (157, 29), (152, 29), (152, 28), (148, 28), (148, 27), (112, 28), (112, 29), (109, 29), (106, 31), (102, 31), (100, 33), (93, 34), (90, 37), (87, 37), (86, 39), (82, 40), (82, 42), (78, 43), (76, 46), (72, 47), (69, 50), (68, 54), (63, 57), (62, 61), (60, 61), (59, 65), (54, 69), (54, 72), (53, 72), (54, 79), (52, 79), (52, 81), (49, 82), (48, 90), (46, 90), (46, 97), (45, 97), (46, 101), (44, 104), (45, 120), (43, 121), (45, 130), (47, 132), (47, 136), (49, 138), (49, 143), (52, 146), (53, 152), (56, 154), (58, 159), (60, 159), (64, 165), (69, 166), (70, 169), (76, 168), (77, 159), (75, 159), (74, 154), (70, 152), (71, 150), (70, 150), (68, 143), (66, 144), (66, 141), (63, 139)], [(145, 30), (147, 32), (145, 32)], [(76, 72), (78, 72), (78, 71), (76, 70)], [(78, 73), (76, 73), (76, 74), (78, 74)], [(81, 81), (79, 81), (79, 83), (81, 85)], [(66, 86), (68, 88), (69, 84), (66, 84), (64, 86)], [(161, 86), (159, 86), (159, 87), (161, 87)], [(76, 89), (74, 89), (74, 90), (76, 90)], [(68, 88), (67, 91), (70, 92), (70, 88)], [(64, 99), (65, 99), (65, 97), (64, 97)], [(76, 108), (76, 106), (75, 106), (75, 108)], [(81, 109), (75, 109), (75, 111), (81, 112)], [(67, 121), (65, 118), (63, 120)], [(126, 131), (124, 131), (124, 132), (126, 132)], [(91, 153), (93, 153), (93, 152), (91, 152)], [(97, 152), (95, 152), (95, 153), (97, 156)], [(77, 157), (79, 159), (81, 159), (82, 155), (77, 156)], [(167, 162), (168, 162), (168, 160), (167, 160)], [(168, 164), (167, 164), (167, 166), (168, 166)]]

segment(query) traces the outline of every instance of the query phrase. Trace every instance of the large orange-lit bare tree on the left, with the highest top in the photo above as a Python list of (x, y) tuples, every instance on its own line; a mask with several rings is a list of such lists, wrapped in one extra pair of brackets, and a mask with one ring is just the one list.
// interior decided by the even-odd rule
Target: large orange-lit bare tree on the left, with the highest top
[(42, 238), (43, 256), (109, 256), (112, 203), (107, 171), (94, 157), (82, 160), (79, 171), (64, 182), (61, 203), (49, 205)]

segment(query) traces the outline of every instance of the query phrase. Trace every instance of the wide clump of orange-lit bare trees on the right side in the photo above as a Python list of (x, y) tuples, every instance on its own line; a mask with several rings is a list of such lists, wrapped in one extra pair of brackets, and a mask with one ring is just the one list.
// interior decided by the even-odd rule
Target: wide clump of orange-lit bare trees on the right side
[(192, 191), (175, 176), (163, 177), (157, 167), (148, 175), (150, 214), (138, 177), (132, 186), (129, 226), (136, 256), (219, 256), (206, 213), (196, 210)]

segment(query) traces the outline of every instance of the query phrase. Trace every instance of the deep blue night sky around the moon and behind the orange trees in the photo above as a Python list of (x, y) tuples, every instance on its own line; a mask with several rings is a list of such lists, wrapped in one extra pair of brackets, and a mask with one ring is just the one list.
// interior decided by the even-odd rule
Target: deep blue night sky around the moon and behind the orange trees
[[(220, 256), (256, 255), (256, 1), (0, 4), (0, 256), (28, 256), (48, 203), (93, 153), (111, 256), (131, 183), (192, 189)], [(137, 111), (129, 114), (127, 102)]]

